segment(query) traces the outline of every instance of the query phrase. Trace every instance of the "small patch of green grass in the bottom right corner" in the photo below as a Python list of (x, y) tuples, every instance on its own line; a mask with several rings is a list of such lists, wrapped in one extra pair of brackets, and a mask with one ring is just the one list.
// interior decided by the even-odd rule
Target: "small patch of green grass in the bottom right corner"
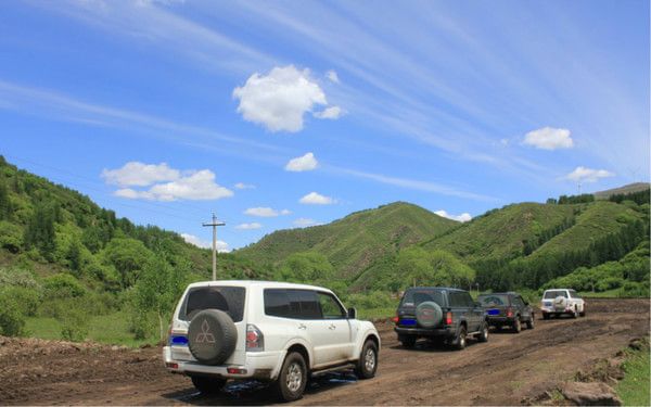
[(617, 383), (616, 391), (625, 406), (649, 406), (649, 376), (651, 355), (649, 348), (631, 351), (623, 365), (626, 372), (624, 379)]

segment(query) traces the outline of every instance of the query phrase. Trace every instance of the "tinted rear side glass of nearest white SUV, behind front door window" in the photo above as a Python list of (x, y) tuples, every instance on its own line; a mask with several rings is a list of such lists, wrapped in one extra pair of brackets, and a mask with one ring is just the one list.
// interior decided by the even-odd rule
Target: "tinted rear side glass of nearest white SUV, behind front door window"
[(310, 290), (266, 289), (265, 314), (294, 319), (321, 319), (317, 293)]

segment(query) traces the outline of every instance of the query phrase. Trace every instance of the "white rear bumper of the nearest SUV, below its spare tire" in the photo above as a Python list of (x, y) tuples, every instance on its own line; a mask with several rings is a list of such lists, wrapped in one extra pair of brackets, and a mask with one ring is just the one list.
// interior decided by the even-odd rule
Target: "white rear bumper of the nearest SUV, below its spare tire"
[[(243, 365), (210, 366), (192, 360), (176, 360), (171, 357), (171, 347), (163, 347), (163, 360), (168, 371), (225, 379), (275, 380), (278, 377), (284, 356), (284, 351), (250, 352), (246, 353), (246, 361)], [(229, 372), (229, 369), (231, 369), (231, 372)]]

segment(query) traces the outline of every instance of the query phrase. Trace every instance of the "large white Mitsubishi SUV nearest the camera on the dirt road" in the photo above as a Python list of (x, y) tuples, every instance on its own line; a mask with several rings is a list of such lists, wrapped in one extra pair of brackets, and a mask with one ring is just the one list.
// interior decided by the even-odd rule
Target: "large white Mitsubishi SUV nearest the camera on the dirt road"
[(302, 397), (308, 378), (378, 369), (380, 334), (328, 289), (268, 281), (190, 284), (174, 313), (163, 358), (202, 392), (228, 379), (273, 382), (284, 400)]

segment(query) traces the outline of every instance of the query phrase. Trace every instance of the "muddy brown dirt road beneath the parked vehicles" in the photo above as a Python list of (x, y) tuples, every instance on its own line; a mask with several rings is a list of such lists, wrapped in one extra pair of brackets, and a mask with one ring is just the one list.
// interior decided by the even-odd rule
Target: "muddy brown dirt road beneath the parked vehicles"
[[(378, 376), (357, 382), (333, 374), (310, 383), (302, 405), (519, 405), (633, 338), (649, 334), (649, 301), (588, 300), (579, 319), (536, 320), (520, 334), (493, 332), (462, 352), (419, 343), (399, 346), (390, 323), (378, 325), (383, 344)], [(0, 338), (0, 405), (239, 405), (269, 404), (255, 382), (231, 383), (215, 397), (170, 374), (161, 349), (125, 349), (33, 339)]]

